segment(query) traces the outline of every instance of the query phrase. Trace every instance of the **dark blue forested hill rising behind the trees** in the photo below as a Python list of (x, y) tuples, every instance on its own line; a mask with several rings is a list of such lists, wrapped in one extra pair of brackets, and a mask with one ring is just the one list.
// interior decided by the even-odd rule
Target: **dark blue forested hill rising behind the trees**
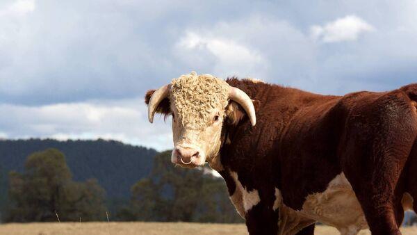
[[(0, 140), (1, 172), (22, 172), (29, 154), (50, 147), (65, 154), (74, 180), (96, 178), (108, 198), (129, 198), (131, 186), (149, 175), (157, 154), (154, 149), (114, 140)], [(0, 180), (0, 184), (4, 181)]]

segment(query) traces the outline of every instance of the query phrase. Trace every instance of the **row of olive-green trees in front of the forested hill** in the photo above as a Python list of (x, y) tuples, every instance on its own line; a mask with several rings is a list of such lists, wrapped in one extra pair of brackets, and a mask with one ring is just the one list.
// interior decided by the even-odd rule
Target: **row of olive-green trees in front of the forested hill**
[[(207, 170), (175, 168), (170, 152), (157, 154), (147, 177), (131, 186), (131, 199), (111, 220), (243, 222), (222, 179)], [(8, 174), (5, 222), (104, 221), (106, 191), (97, 179), (74, 181), (58, 149), (30, 154), (23, 172)]]

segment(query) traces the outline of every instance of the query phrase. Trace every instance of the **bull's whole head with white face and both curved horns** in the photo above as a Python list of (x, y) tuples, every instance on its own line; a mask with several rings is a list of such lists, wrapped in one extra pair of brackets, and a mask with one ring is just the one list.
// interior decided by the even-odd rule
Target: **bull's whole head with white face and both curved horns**
[[(228, 106), (229, 99), (237, 103), (234, 103), (235, 108)], [(165, 103), (159, 106), (164, 100)], [(243, 116), (236, 115), (242, 113), (236, 107), (245, 110), (252, 125), (256, 122), (250, 97), (210, 74), (182, 75), (167, 86), (148, 92), (147, 102), (149, 122), (153, 121), (156, 112), (172, 114), (174, 149), (171, 161), (188, 168), (204, 165), (218, 156), (224, 118)]]

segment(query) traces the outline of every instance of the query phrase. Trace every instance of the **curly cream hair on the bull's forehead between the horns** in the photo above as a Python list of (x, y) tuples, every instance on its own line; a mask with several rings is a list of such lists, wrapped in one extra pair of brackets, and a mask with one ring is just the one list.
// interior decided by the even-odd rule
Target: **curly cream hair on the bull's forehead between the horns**
[(184, 126), (202, 129), (215, 108), (223, 110), (229, 99), (229, 84), (211, 74), (191, 72), (172, 79), (171, 99)]

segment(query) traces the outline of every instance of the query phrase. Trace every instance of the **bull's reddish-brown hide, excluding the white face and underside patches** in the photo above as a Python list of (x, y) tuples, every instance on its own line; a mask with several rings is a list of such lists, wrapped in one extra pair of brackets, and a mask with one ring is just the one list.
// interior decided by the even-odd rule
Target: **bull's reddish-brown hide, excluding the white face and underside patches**
[[(247, 191), (259, 191), (260, 202), (245, 215), (250, 234), (277, 234), (275, 188), (286, 206), (300, 210), (307, 195), (325, 191), (341, 172), (373, 234), (400, 234), (402, 195), (417, 199), (417, 84), (325, 96), (235, 78), (227, 83), (256, 108), (251, 127), (240, 106), (229, 104), (222, 131), (228, 141), (220, 149), (229, 194), (236, 190), (230, 171)], [(169, 113), (169, 101), (158, 108)], [(313, 225), (300, 234), (313, 234)]]

